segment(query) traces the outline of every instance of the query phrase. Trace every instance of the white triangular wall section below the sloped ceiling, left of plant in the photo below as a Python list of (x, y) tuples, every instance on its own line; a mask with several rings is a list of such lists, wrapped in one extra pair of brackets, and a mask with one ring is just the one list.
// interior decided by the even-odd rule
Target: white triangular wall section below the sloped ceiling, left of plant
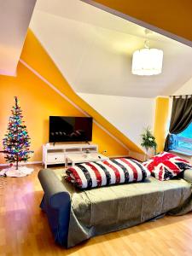
[(143, 128), (154, 127), (155, 101), (152, 98), (85, 93), (79, 93), (79, 96), (138, 146)]

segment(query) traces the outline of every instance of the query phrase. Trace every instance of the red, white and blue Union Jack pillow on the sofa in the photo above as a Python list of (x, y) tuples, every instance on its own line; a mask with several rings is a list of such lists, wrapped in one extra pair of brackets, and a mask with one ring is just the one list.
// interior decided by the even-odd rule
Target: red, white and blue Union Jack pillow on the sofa
[(180, 158), (176, 154), (162, 152), (143, 163), (148, 171), (159, 180), (168, 180), (177, 176), (180, 172), (192, 168), (189, 161)]

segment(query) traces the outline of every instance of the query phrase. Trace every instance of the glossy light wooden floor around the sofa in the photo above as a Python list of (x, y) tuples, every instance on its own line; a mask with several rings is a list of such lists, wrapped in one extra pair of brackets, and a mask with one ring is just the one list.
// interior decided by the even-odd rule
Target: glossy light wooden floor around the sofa
[(68, 250), (58, 247), (39, 208), (41, 166), (33, 167), (28, 177), (0, 178), (0, 255), (192, 255), (192, 213), (97, 236)]

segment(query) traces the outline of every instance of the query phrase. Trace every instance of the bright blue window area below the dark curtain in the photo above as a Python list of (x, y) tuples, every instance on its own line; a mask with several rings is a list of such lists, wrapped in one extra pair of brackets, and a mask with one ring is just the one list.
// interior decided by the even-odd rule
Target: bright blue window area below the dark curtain
[(192, 154), (192, 123), (184, 131), (178, 133), (175, 136), (175, 140), (176, 143), (173, 150), (176, 149), (183, 153)]

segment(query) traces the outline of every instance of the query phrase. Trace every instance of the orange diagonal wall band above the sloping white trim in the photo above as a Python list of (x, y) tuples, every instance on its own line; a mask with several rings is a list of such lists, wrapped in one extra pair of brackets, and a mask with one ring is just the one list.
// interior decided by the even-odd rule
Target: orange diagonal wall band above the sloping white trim
[(67, 83), (67, 80), (60, 73), (55, 63), (50, 59), (42, 45), (39, 44), (38, 39), (30, 30), (27, 32), (26, 42), (20, 59), (47, 79), (49, 83), (53, 84), (57, 90), (66, 95), (71, 101), (75, 102), (79, 108), (96, 119), (96, 122), (110, 131), (114, 137), (117, 137), (119, 141), (124, 143), (131, 151), (143, 154), (141, 148), (137, 147), (135, 143), (132, 143), (128, 137), (125, 137), (124, 134), (117, 130), (107, 119), (104, 119), (101, 114), (97, 113), (94, 108), (91, 108), (88, 103), (84, 102), (84, 100), (73, 91), (72, 87)]

